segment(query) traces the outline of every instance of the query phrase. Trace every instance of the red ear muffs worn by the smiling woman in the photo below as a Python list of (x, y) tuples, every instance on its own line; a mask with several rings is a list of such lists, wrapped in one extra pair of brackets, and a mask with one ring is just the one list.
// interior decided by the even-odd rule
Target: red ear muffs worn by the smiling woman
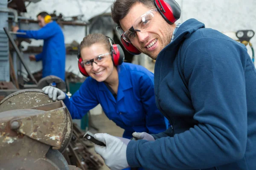
[[(114, 41), (110, 37), (108, 37), (108, 39), (111, 43), (111, 58), (112, 58), (113, 64), (115, 66), (121, 65), (125, 59), (124, 51), (122, 50), (122, 48), (119, 44), (112, 44), (112, 42), (114, 43)], [(78, 68), (79, 68), (80, 73), (86, 77), (89, 77), (89, 74), (85, 71), (84, 66), (81, 64), (82, 58), (81, 58), (81, 54), (80, 54), (80, 48), (78, 48), (77, 59), (78, 59)]]

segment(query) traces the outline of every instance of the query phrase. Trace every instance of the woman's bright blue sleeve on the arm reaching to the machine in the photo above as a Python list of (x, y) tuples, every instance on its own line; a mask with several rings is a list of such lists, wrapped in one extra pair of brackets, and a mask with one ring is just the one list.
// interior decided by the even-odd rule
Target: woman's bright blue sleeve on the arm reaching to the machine
[(63, 100), (72, 119), (81, 119), (90, 109), (99, 104), (96, 98), (97, 92), (93, 87), (96, 85), (87, 78), (70, 99), (66, 96), (66, 99)]

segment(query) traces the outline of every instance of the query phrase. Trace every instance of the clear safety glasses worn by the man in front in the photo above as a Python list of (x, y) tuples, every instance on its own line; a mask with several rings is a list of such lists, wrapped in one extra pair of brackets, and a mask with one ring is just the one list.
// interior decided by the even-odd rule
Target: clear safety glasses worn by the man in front
[(117, 26), (116, 30), (119, 32), (119, 34), (126, 42), (131, 43), (135, 39), (136, 31), (144, 32), (148, 28), (156, 12), (157, 8), (147, 11), (145, 14), (138, 17), (134, 21), (134, 24), (131, 26), (131, 28), (125, 32), (122, 30), (120, 26)]

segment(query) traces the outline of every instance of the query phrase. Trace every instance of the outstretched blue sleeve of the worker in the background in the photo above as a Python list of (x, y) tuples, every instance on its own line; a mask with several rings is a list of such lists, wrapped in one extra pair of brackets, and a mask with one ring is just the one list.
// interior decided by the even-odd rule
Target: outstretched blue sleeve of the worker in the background
[(47, 24), (39, 30), (18, 30), (17, 32), (25, 32), (26, 35), (17, 34), (17, 37), (21, 38), (33, 38), (35, 40), (46, 40), (52, 37), (56, 33), (57, 29), (52, 24)]

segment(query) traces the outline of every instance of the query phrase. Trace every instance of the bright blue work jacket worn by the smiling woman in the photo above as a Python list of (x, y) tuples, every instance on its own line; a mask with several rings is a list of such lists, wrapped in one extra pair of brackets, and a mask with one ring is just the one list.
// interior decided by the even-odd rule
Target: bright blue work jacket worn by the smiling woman
[(88, 77), (78, 91), (64, 103), (73, 119), (81, 119), (100, 104), (106, 116), (125, 129), (123, 137), (133, 132), (160, 133), (167, 129), (165, 117), (157, 109), (154, 74), (140, 65), (123, 63), (117, 67), (119, 86), (116, 99), (104, 82)]

